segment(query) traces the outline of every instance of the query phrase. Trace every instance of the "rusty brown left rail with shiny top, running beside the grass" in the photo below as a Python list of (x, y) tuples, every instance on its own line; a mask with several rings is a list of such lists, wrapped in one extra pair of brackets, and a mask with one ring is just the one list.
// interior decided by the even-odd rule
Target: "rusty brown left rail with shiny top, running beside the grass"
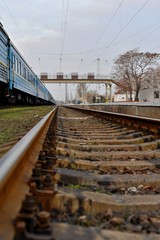
[(0, 222), (0, 239), (13, 237), (11, 221), (29, 190), (27, 181), (56, 112), (57, 108), (54, 108), (0, 159), (0, 218), (3, 219)]

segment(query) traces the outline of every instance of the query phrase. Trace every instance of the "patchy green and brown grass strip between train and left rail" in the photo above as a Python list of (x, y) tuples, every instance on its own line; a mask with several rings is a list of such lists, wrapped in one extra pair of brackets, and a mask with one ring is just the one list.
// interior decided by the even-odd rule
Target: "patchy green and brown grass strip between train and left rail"
[(0, 148), (33, 128), (52, 109), (53, 106), (0, 109)]

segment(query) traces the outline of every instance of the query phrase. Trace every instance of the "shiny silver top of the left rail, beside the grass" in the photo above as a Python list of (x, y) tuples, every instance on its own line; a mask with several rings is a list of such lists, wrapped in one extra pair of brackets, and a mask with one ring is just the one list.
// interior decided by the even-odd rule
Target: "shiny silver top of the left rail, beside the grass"
[(51, 119), (56, 110), (57, 108), (48, 113), (0, 159), (0, 195), (5, 189), (5, 185), (21, 162), (22, 158), (27, 154), (31, 145), (36, 141), (39, 133), (46, 125), (46, 122)]

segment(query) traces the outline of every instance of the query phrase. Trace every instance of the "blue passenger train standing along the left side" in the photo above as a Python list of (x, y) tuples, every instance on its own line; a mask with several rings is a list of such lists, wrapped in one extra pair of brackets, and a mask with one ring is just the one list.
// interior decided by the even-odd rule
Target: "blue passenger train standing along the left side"
[(0, 105), (56, 104), (0, 23)]

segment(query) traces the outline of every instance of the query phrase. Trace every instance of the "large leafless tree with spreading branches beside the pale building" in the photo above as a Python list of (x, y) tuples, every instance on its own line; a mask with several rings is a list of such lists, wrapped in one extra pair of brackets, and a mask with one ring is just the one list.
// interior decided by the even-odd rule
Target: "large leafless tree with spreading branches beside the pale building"
[(139, 90), (151, 81), (153, 69), (157, 66), (160, 54), (138, 52), (131, 50), (120, 55), (114, 62), (113, 78), (120, 89), (130, 93), (135, 91), (135, 101), (138, 101)]

